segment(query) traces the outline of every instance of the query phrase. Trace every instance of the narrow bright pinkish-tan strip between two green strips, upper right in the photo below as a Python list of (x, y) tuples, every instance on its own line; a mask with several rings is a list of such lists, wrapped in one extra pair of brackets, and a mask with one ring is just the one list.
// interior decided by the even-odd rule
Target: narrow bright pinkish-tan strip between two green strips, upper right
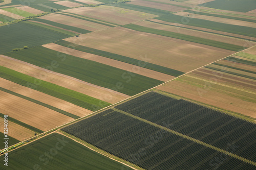
[(227, 18), (220, 18), (220, 17), (215, 17), (215, 16), (191, 14), (189, 12), (183, 12), (183, 11), (175, 13), (175, 15), (180, 15), (180, 16), (185, 16), (185, 17), (187, 17), (188, 14), (191, 15), (188, 18), (198, 18), (198, 19), (210, 20), (210, 21), (214, 21), (214, 22), (227, 23), (227, 24), (230, 24), (230, 25), (256, 28), (256, 25), (253, 22), (247, 22), (247, 21), (235, 20), (235, 19), (227, 19)]

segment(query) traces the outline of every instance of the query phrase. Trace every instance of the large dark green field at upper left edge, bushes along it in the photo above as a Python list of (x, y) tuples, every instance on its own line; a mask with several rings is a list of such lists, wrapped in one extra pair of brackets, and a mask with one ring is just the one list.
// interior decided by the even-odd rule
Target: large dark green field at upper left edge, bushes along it
[(71, 37), (67, 34), (34, 26), (24, 22), (0, 27), (0, 54), (12, 51), (13, 48), (37, 46)]

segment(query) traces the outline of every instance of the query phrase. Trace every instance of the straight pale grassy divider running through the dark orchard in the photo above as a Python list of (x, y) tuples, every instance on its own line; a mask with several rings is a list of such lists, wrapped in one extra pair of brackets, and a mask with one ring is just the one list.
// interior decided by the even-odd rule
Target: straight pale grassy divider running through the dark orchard
[(240, 159), (240, 160), (242, 160), (242, 161), (244, 161), (244, 162), (247, 162), (247, 163), (250, 163), (250, 164), (256, 166), (256, 162), (253, 162), (253, 161), (251, 161), (251, 160), (245, 159), (245, 158), (240, 157), (240, 156), (238, 156), (238, 155), (236, 155), (236, 154), (232, 154), (232, 153), (230, 153), (230, 152), (228, 152), (228, 151), (225, 151), (225, 150), (223, 150), (223, 149), (219, 149), (219, 148), (214, 147), (213, 145), (208, 144), (208, 143), (205, 143), (205, 142), (203, 142), (203, 141), (201, 141), (201, 140), (195, 139), (195, 138), (193, 138), (193, 137), (189, 137), (189, 136), (187, 136), (187, 135), (183, 135), (183, 134), (181, 134), (181, 133), (179, 133), (179, 132), (177, 132), (177, 131), (170, 130), (170, 129), (166, 128), (166, 127), (163, 127), (163, 126), (161, 126), (161, 125), (155, 124), (155, 123), (150, 122), (150, 121), (148, 121), (148, 120), (146, 120), (146, 119), (140, 118), (140, 117), (135, 116), (135, 115), (130, 114), (130, 113), (127, 113), (127, 112), (125, 112), (125, 111), (122, 111), (122, 110), (119, 110), (119, 109), (116, 109), (116, 108), (112, 108), (112, 109), (113, 109), (114, 111), (119, 112), (119, 113), (122, 113), (122, 114), (125, 114), (125, 115), (127, 115), (127, 116), (136, 118), (136, 119), (140, 120), (141, 122), (150, 124), (150, 125), (155, 126), (155, 127), (157, 127), (157, 128), (163, 129), (163, 130), (165, 130), (165, 131), (167, 131), (167, 132), (173, 133), (173, 134), (175, 134), (175, 135), (181, 136), (181, 137), (186, 138), (186, 139), (188, 139), (188, 140), (191, 140), (191, 141), (194, 141), (194, 142), (196, 142), (196, 143), (202, 144), (202, 145), (204, 145), (205, 147), (214, 149), (214, 150), (216, 150), (216, 151), (219, 151), (219, 152), (221, 152), (221, 153), (227, 154), (227, 155), (229, 155), (229, 156), (231, 156), (231, 157)]

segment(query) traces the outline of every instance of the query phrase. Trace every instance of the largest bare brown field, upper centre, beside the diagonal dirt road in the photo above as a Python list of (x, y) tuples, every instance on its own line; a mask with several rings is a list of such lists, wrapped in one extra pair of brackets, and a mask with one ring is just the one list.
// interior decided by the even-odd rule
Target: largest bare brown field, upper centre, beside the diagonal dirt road
[[(76, 39), (68, 38), (65, 40), (74, 42)], [(79, 41), (77, 42), (79, 45), (138, 60), (141, 60), (140, 56), (146, 55), (150, 63), (183, 72), (193, 70), (233, 53), (208, 45), (120, 27), (84, 34), (79, 36), (76, 41)]]

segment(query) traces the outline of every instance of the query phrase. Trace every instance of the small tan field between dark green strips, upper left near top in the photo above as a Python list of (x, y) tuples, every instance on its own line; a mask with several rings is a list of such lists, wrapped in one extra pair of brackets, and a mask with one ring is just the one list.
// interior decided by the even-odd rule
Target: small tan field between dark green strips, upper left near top
[(99, 31), (104, 30), (106, 28), (110, 28), (108, 26), (100, 25), (99, 23), (90, 22), (78, 18), (74, 18), (71, 16), (61, 15), (61, 14), (51, 14), (39, 17), (41, 19), (47, 19), (50, 21), (62, 23), (64, 25), (73, 26), (89, 31)]

